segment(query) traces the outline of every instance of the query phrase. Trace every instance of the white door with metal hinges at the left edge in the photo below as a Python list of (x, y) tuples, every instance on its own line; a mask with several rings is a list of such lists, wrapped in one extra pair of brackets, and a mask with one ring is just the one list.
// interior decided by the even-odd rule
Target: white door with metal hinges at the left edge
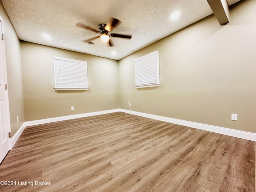
[(3, 20), (0, 16), (0, 163), (10, 149), (10, 114), (6, 75)]

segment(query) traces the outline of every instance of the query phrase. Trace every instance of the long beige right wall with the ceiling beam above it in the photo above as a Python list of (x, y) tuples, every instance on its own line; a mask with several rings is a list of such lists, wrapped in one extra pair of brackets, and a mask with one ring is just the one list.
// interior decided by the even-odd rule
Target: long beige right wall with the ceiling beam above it
[[(120, 60), (120, 108), (256, 132), (255, 10), (244, 1), (226, 26), (209, 16)], [(133, 60), (154, 50), (160, 87), (136, 89)]]

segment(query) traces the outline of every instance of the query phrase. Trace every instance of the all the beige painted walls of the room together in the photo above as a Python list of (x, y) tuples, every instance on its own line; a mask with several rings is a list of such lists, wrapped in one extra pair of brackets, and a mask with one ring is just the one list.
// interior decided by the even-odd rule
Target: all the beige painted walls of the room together
[[(12, 135), (24, 121), (129, 110), (128, 102), (138, 112), (256, 132), (255, 10), (255, 0), (243, 1), (232, 8), (226, 26), (209, 16), (117, 62), (20, 43), (0, 2)], [(159, 50), (160, 87), (136, 89), (133, 60), (154, 50)], [(86, 60), (89, 90), (56, 92), (54, 56)], [(238, 114), (237, 122), (230, 120), (231, 113)]]

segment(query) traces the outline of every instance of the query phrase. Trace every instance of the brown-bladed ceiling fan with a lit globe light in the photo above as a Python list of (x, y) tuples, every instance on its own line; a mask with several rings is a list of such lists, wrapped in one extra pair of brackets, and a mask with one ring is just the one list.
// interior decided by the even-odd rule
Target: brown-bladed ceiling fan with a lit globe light
[(96, 36), (96, 37), (93, 37), (90, 39), (83, 40), (83, 42), (87, 43), (87, 42), (90, 42), (90, 41), (100, 37), (102, 41), (108, 42), (109, 46), (111, 47), (111, 46), (114, 46), (114, 44), (112, 43), (110, 37), (118, 37), (118, 38), (126, 38), (126, 39), (132, 38), (132, 35), (110, 33), (112, 31), (112, 29), (115, 28), (116, 26), (118, 26), (120, 23), (121, 23), (120, 20), (118, 20), (116, 18), (111, 18), (110, 24), (103, 24), (103, 23), (99, 24), (98, 30), (96, 30), (90, 26), (87, 26), (82, 22), (78, 22), (76, 24), (76, 26), (87, 29), (87, 30), (91, 30), (93, 32), (100, 34), (100, 36)]

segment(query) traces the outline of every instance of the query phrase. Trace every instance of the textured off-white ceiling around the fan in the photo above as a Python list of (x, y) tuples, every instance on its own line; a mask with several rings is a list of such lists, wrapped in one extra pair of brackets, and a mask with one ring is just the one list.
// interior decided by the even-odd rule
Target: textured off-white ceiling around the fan
[[(234, 4), (238, 0), (228, 0)], [(2, 0), (20, 40), (119, 60), (210, 14), (207, 0)], [(170, 14), (180, 12), (177, 20)], [(120, 23), (113, 33), (132, 34), (130, 40), (111, 37), (108, 47), (100, 38), (89, 45), (82, 40), (96, 32), (79, 28), (77, 22), (98, 29), (110, 18)], [(51, 40), (43, 38), (48, 34)], [(113, 55), (112, 52), (116, 52)]]

